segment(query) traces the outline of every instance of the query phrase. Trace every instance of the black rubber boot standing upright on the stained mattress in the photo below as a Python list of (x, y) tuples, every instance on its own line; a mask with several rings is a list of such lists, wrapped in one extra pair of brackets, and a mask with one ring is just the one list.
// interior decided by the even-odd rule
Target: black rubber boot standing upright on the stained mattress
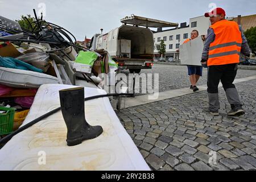
[(90, 126), (85, 120), (83, 87), (60, 90), (59, 93), (61, 112), (68, 128), (68, 146), (76, 146), (102, 134), (101, 126)]

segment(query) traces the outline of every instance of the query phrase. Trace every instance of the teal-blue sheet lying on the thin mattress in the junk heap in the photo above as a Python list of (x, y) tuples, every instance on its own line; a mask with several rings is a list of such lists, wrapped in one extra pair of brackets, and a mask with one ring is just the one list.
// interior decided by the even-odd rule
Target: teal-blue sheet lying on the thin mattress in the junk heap
[(20, 61), (18, 59), (14, 59), (13, 57), (0, 56), (0, 67), (23, 69), (23, 70), (29, 70), (29, 71), (43, 73), (42, 69), (33, 67), (32, 65), (24, 63), (23, 61)]

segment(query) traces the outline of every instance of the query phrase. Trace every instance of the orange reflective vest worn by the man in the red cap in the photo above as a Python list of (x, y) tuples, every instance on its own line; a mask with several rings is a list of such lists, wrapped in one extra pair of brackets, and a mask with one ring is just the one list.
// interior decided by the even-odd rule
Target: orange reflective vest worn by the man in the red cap
[(208, 66), (239, 63), (242, 34), (236, 22), (221, 20), (212, 26), (215, 40), (210, 44)]

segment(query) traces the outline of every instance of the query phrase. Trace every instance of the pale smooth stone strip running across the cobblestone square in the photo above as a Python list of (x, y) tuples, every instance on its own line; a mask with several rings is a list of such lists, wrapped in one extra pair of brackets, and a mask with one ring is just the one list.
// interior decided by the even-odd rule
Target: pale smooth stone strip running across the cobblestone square
[[(234, 81), (234, 84), (238, 84), (240, 82), (245, 82), (245, 81), (250, 81), (250, 80), (255, 80), (255, 79), (256, 79), (256, 76), (239, 78)], [(207, 85), (201, 85), (201, 86), (197, 86), (197, 87), (199, 88), (200, 92), (207, 90)], [(220, 83), (220, 85), (218, 87), (221, 88), (222, 84)], [(159, 97), (156, 100), (148, 100), (148, 96), (152, 96), (152, 94), (147, 94), (144, 96), (137, 96), (135, 98), (125, 98), (122, 100), (121, 108), (123, 109), (123, 108), (128, 108), (128, 107), (149, 104), (152, 102), (163, 101), (163, 100), (167, 100), (169, 98), (185, 96), (185, 95), (192, 94), (192, 93), (193, 93), (193, 91), (191, 89), (184, 88), (184, 89), (170, 90), (167, 92), (160, 92)]]

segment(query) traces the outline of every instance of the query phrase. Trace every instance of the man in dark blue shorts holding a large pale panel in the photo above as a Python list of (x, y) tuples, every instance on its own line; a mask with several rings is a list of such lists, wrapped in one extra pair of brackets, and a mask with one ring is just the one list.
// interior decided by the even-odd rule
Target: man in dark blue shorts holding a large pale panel
[[(183, 44), (188, 43), (193, 39), (196, 39), (198, 36), (199, 36), (199, 32), (197, 30), (193, 30), (191, 32), (191, 38), (185, 40)], [(187, 65), (187, 67), (188, 67), (189, 80), (191, 82), (190, 89), (193, 90), (193, 92), (196, 92), (199, 90), (196, 84), (199, 81), (199, 78), (203, 76), (203, 67), (195, 66), (195, 65)]]

